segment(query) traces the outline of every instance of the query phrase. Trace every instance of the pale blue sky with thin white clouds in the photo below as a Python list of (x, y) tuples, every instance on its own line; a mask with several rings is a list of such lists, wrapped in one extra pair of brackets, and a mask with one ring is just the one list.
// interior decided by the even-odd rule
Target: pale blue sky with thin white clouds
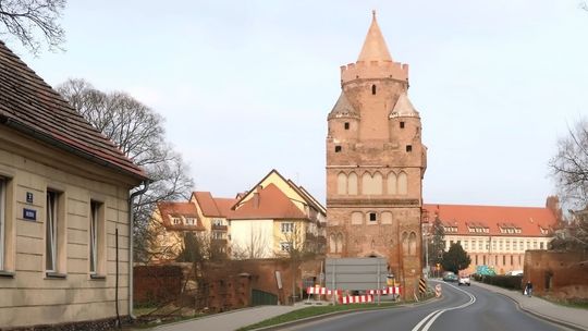
[(428, 147), (426, 204), (544, 206), (548, 162), (588, 113), (579, 0), (69, 1), (47, 83), (124, 90), (164, 119), (196, 191), (233, 197), (271, 169), (326, 197), (327, 115), (371, 10)]

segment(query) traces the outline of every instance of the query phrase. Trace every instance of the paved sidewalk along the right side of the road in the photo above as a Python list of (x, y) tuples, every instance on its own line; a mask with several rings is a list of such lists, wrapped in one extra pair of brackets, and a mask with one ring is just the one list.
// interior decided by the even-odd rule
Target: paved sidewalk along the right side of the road
[(506, 290), (500, 286), (489, 285), (480, 282), (473, 282), (473, 284), (491, 292), (505, 295), (518, 303), (522, 310), (540, 318), (575, 330), (588, 330), (588, 318), (586, 317), (588, 315), (588, 310), (586, 309), (555, 305), (537, 296), (528, 297), (523, 295), (520, 291)]

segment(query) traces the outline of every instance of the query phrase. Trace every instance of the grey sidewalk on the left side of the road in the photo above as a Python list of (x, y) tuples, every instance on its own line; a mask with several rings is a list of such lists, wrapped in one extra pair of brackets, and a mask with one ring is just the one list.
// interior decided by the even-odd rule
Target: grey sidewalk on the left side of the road
[(258, 306), (234, 311), (212, 315), (194, 320), (186, 320), (171, 324), (152, 328), (154, 331), (188, 331), (188, 330), (215, 330), (233, 331), (238, 328), (260, 322), (278, 315), (304, 308), (304, 305), (296, 306)]

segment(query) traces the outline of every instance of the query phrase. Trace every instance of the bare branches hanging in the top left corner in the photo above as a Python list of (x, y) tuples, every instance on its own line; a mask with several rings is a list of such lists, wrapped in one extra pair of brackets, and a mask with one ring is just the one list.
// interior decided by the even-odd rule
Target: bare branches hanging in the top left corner
[(65, 0), (0, 0), (0, 36), (16, 37), (34, 54), (41, 42), (35, 36), (40, 32), (49, 49), (61, 49), (65, 32), (58, 23)]

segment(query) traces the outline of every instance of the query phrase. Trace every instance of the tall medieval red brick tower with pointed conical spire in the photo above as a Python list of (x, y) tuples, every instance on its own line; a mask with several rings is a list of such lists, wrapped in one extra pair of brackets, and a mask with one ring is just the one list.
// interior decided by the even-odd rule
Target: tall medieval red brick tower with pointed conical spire
[(394, 62), (376, 20), (357, 62), (341, 66), (328, 117), (329, 257), (385, 257), (411, 295), (421, 274), (427, 148), (408, 100), (408, 64)]

